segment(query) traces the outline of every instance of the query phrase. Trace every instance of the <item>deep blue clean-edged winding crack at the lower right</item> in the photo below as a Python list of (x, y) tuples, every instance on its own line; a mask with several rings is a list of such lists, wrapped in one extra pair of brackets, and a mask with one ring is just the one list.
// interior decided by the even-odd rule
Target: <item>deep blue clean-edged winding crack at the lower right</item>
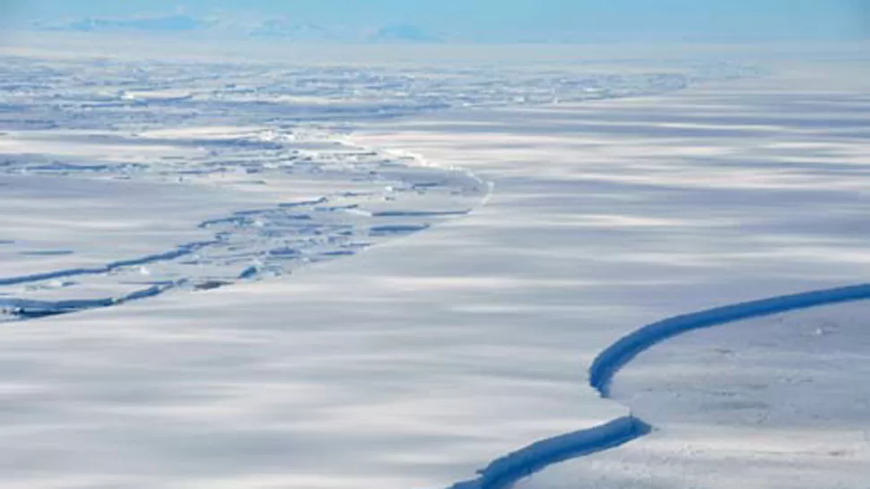
[[(735, 305), (725, 305), (699, 313), (688, 313), (648, 324), (606, 347), (589, 367), (589, 384), (605, 399), (610, 399), (610, 383), (622, 366), (645, 350), (692, 330), (730, 322), (787, 313), (800, 309), (870, 299), (870, 284), (815, 290), (777, 296)], [(457, 483), (451, 489), (500, 489), (567, 459), (576, 459), (609, 450), (650, 433), (654, 426), (634, 415), (617, 418), (575, 433), (535, 442), (522, 450), (494, 460), (472, 481)]]

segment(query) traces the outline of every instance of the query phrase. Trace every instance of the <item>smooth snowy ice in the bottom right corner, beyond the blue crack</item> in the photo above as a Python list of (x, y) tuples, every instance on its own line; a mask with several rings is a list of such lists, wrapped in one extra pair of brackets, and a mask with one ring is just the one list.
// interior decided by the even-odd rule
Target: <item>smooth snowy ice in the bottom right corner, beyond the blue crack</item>
[(866, 487), (867, 312), (808, 309), (649, 350), (613, 397), (659, 431), (518, 487)]

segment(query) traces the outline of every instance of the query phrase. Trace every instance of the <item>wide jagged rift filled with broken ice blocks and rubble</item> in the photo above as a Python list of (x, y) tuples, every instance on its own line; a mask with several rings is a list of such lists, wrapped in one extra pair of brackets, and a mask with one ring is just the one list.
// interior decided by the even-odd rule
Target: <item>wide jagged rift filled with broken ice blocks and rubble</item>
[[(213, 233), (212, 239), (182, 244), (166, 253), (99, 266), (0, 278), (0, 287), (23, 285), (30, 292), (66, 287), (65, 284), (40, 283), (51, 280), (140, 273), (152, 275), (156, 271), (160, 279), (152, 283), (171, 282), (172, 287), (152, 287), (126, 296), (55, 301), (4, 294), (0, 299), (0, 316), (32, 319), (74, 313), (157, 296), (185, 285), (192, 290), (212, 290), (239, 280), (257, 279), (269, 274), (283, 275), (289, 270), (290, 263), (304, 264), (351, 256), (374, 244), (378, 238), (410, 235), (428, 229), (438, 219), (466, 215), (473, 207), (461, 211), (442, 210), (438, 206), (417, 210), (413, 209), (413, 199), (425, 193), (482, 197), (480, 193), (485, 186), (476, 176), (452, 168), (433, 170), (431, 167), (394, 164), (389, 167), (390, 175), (387, 175), (387, 172), (369, 170), (366, 164), (361, 164), (361, 169), (354, 171), (365, 171), (372, 183), (385, 184), (383, 190), (380, 193), (348, 191), (299, 202), (279, 202), (271, 208), (237, 210), (228, 217), (199, 223), (197, 228)], [(439, 175), (433, 176), (433, 171)], [(433, 178), (437, 178), (438, 183), (432, 183)], [(381, 210), (377, 208), (378, 196), (383, 202), (393, 202), (391, 207), (399, 205), (397, 198), (404, 202), (402, 197), (406, 196), (410, 202), (405, 202), (405, 206), (412, 207)], [(465, 203), (472, 205), (471, 202)], [(374, 210), (362, 207), (371, 204), (376, 206)], [(450, 203), (454, 209), (457, 205), (457, 202)], [(154, 265), (159, 267), (155, 270)], [(240, 266), (232, 270), (234, 265)], [(206, 271), (204, 266), (210, 269)], [(69, 285), (80, 284), (70, 282)]]

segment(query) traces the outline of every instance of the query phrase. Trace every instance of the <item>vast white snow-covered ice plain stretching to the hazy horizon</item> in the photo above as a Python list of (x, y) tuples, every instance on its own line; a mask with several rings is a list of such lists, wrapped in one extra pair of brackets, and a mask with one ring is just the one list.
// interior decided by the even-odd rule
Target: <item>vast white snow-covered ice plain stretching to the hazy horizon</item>
[[(113, 86), (109, 108), (101, 109), (92, 89), (65, 90), (60, 99), (75, 101), (58, 102), (63, 110), (49, 109), (54, 102), (32, 92), (42, 88), (5, 92), (0, 144), (18, 150), (4, 150), (0, 202), (18, 207), (0, 217), (0, 277), (171, 250), (198, 239), (204, 220), (244, 218), (234, 212), (269, 202), (292, 209), (279, 204), (323, 195), (377, 192), (339, 206), (353, 210), (342, 224), (367, 237), (384, 225), (356, 219), (400, 217), (410, 222), (399, 229), (422, 232), (293, 267), (292, 277), (10, 322), (0, 354), (3, 485), (466, 487), (481, 483), (474, 471), (493, 460), (607, 426), (631, 408), (652, 433), (518, 484), (864, 487), (867, 396), (854, 386), (866, 373), (866, 305), (672, 339), (617, 373), (614, 399), (602, 399), (587, 380), (602, 350), (645, 324), (862, 282), (870, 271), (870, 100), (860, 63), (780, 64), (762, 79), (714, 80), (692, 75), (691, 63), (668, 64), (666, 74), (638, 74), (627, 63), (631, 74), (620, 74), (612, 62), (613, 76), (582, 78), (595, 87), (553, 84), (594, 71), (594, 64), (574, 62), (558, 73), (548, 66), (535, 77), (526, 69), (524, 77), (500, 82), (485, 82), (492, 71), (479, 67), (430, 67), (420, 69), (426, 82), (418, 84), (420, 73), (372, 78), (361, 67), (324, 76), (322, 67), (95, 68), (92, 61), (16, 56), (6, 65), (25, 67), (13, 74), (34, 66), (90, 73), (85, 81), (104, 79), (100, 70), (120, 78), (173, 74), (169, 87), (152, 87), (154, 79), (123, 93)], [(226, 90), (211, 85), (224, 78), (202, 75), (219, 71), (239, 79), (230, 91), (240, 82), (265, 82), (217, 101), (214, 93)], [(312, 78), (306, 97), (317, 103), (274, 93), (292, 92), (284, 80)], [(401, 80), (399, 88), (389, 80)], [(631, 91), (623, 89), (627, 80)], [(509, 82), (516, 88), (505, 90)], [(163, 95), (142, 102), (143, 84)], [(186, 95), (178, 96), (178, 84)], [(210, 95), (202, 95), (203, 84)], [(542, 86), (546, 98), (535, 99)], [(440, 95), (422, 104), (425, 113), (396, 118), (421, 110), (421, 93)], [(347, 103), (349, 94), (361, 95)], [(646, 97), (628, 97), (639, 95)], [(390, 97), (405, 102), (385, 104)], [(87, 116), (67, 116), (85, 114), (85, 106)], [(383, 112), (373, 115), (375, 106)], [(305, 122), (313, 116), (317, 126)], [(61, 124), (52, 125), (56, 119)], [(231, 136), (214, 129), (227, 125), (234, 126)], [(52, 150), (32, 149), (32, 141), (47, 139)], [(143, 167), (135, 170), (115, 167), (126, 165), (128, 158), (117, 156), (126, 145), (143, 140), (157, 140), (160, 155), (170, 158), (136, 159)], [(292, 152), (300, 148), (309, 151), (304, 163)], [(73, 150), (76, 161), (110, 160), (112, 168), (55, 162)], [(199, 171), (214, 159), (227, 166), (228, 151), (244, 151), (231, 155), (238, 157), (234, 168), (253, 160), (259, 171)], [(263, 151), (283, 153), (267, 158)], [(282, 161), (311, 171), (274, 172)], [(197, 170), (192, 176), (188, 166)], [(390, 177), (378, 178), (385, 173)], [(227, 183), (227, 175), (238, 178)], [(159, 202), (143, 213), (135, 208), (139, 193), (160, 195)], [(68, 209), (48, 207), (52, 198), (89, 210), (81, 222), (97, 223), (96, 235), (68, 223)], [(40, 219), (59, 224), (47, 233)], [(230, 231), (254, 246), (245, 260), (274, 249), (271, 239), (261, 245), (247, 230)], [(295, 227), (278, 232), (283, 240), (298, 237)], [(206, 264), (226, 272), (225, 262)], [(52, 299), (67, 288), (74, 287), (52, 289)], [(3, 292), (7, 301), (47, 293)], [(806, 384), (829, 402), (803, 400), (798, 392)], [(509, 485), (519, 475), (496, 482)]]

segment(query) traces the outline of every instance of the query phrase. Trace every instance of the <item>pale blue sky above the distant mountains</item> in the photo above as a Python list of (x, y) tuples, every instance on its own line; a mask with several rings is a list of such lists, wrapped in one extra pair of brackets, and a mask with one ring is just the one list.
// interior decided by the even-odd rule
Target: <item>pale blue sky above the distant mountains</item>
[[(259, 13), (411, 23), (466, 39), (739, 41), (870, 38), (870, 0), (0, 0), (7, 18)], [(13, 15), (13, 12), (15, 15)]]

